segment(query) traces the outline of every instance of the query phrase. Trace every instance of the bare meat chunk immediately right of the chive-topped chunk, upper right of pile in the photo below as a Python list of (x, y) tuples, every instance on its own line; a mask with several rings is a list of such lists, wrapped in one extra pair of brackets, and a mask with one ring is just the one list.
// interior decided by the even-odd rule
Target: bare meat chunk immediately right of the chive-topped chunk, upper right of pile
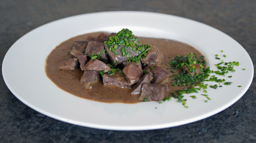
[(159, 51), (156, 46), (151, 46), (151, 49), (147, 51), (146, 58), (141, 59), (141, 63), (143, 66), (146, 66), (147, 64), (155, 64), (157, 66), (161, 66), (165, 60), (165, 55), (162, 54), (162, 52)]

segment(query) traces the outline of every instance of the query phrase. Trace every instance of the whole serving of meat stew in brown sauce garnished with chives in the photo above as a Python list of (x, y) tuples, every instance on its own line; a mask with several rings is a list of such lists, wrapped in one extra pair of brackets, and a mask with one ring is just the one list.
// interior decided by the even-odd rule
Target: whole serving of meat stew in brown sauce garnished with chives
[[(162, 101), (209, 74), (204, 57), (186, 43), (134, 36), (131, 30), (76, 36), (46, 60), (47, 76), (71, 94), (101, 102)], [(183, 75), (183, 76), (177, 76)]]

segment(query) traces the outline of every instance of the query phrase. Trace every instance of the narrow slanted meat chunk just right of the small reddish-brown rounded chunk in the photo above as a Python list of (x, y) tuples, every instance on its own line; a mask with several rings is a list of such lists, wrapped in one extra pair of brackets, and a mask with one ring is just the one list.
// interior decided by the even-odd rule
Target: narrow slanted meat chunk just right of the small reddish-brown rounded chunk
[(143, 83), (150, 83), (153, 79), (153, 74), (149, 71), (141, 77), (140, 81), (132, 88), (131, 94), (140, 94)]

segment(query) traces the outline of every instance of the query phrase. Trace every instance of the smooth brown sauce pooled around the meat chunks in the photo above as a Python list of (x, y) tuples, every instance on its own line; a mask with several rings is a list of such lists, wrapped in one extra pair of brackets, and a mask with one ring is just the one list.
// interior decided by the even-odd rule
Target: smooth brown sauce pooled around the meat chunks
[[(70, 70), (60, 70), (56, 68), (59, 63), (65, 60), (65, 58), (70, 57), (70, 46), (75, 41), (85, 41), (88, 36), (97, 37), (102, 32), (89, 33), (85, 35), (76, 36), (74, 38), (68, 39), (58, 45), (49, 54), (46, 59), (46, 74), (47, 76), (64, 91), (70, 92), (78, 97), (86, 98), (88, 100), (100, 101), (100, 102), (124, 102), (124, 103), (135, 103), (139, 102), (139, 95), (130, 95), (131, 89), (122, 89), (110, 86), (104, 86), (103, 82), (97, 82), (92, 85), (92, 90), (86, 90), (85, 87), (80, 84), (80, 78), (82, 77), (83, 71), (80, 69), (70, 71)], [(156, 39), (156, 38), (139, 38), (143, 44), (151, 44), (156, 46), (162, 53), (167, 57), (163, 68), (167, 70), (167, 64), (176, 55), (185, 55), (190, 52), (194, 52), (198, 57), (201, 53), (192, 46), (168, 39)], [(170, 73), (171, 75), (172, 73)], [(171, 81), (170, 81), (171, 82)], [(175, 92), (177, 89), (183, 89), (186, 87), (171, 86), (168, 82), (168, 91)]]

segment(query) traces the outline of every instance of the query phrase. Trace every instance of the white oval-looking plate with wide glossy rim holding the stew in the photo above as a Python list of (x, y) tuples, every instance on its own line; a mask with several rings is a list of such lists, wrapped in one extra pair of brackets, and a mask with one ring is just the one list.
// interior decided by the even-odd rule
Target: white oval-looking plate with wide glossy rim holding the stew
[[(103, 103), (76, 97), (58, 88), (44, 70), (46, 57), (61, 42), (90, 32), (118, 32), (128, 28), (137, 36), (176, 39), (200, 50), (208, 66), (215, 69), (215, 54), (225, 61), (239, 61), (230, 86), (208, 89), (207, 103), (200, 94), (186, 96), (189, 108), (174, 98), (163, 104)], [(220, 51), (224, 52), (221, 53)], [(246, 70), (242, 70), (246, 69)], [(245, 49), (213, 27), (167, 14), (113, 11), (91, 13), (56, 20), (24, 35), (11, 46), (2, 64), (2, 74), (13, 94), (34, 110), (63, 122), (99, 129), (147, 130), (184, 125), (219, 113), (245, 94), (254, 69)], [(213, 84), (213, 83), (212, 83)], [(238, 85), (242, 85), (238, 88)], [(157, 107), (157, 108), (155, 108)]]

